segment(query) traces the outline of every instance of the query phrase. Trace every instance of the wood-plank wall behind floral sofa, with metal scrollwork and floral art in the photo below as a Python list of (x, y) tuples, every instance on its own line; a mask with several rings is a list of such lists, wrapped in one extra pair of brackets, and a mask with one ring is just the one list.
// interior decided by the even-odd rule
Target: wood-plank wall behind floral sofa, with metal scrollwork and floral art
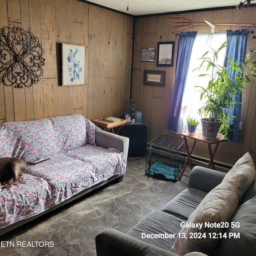
[[(38, 36), (44, 74), (30, 88), (0, 84), (0, 123), (83, 114), (89, 119), (128, 110), (134, 18), (78, 0), (0, 0), (0, 28)], [(60, 44), (86, 47), (85, 84), (60, 86)]]

